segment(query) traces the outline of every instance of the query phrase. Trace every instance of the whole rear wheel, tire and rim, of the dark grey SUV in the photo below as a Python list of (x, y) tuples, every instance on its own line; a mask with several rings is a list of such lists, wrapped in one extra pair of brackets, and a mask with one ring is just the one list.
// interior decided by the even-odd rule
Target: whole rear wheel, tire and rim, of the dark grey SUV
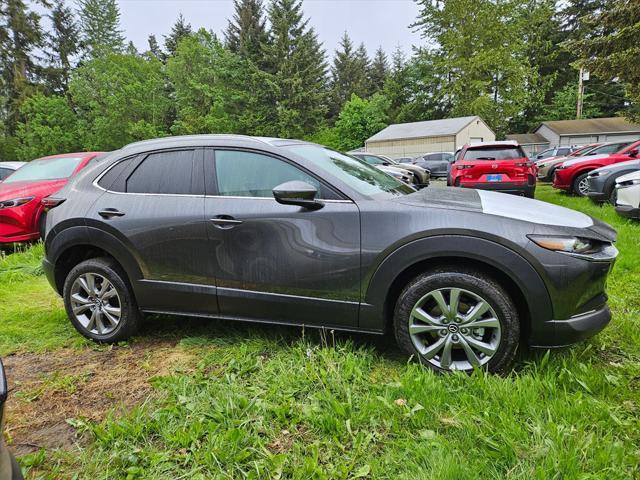
[(140, 312), (126, 274), (110, 258), (92, 258), (74, 267), (63, 297), (71, 323), (87, 338), (118, 342), (138, 329)]

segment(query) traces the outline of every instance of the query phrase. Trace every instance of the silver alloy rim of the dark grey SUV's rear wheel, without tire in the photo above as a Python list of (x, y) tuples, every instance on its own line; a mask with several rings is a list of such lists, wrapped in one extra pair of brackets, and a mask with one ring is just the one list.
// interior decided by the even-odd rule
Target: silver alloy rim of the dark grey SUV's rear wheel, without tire
[(120, 323), (120, 296), (102, 275), (84, 273), (76, 278), (71, 286), (70, 302), (73, 314), (88, 332), (107, 335)]

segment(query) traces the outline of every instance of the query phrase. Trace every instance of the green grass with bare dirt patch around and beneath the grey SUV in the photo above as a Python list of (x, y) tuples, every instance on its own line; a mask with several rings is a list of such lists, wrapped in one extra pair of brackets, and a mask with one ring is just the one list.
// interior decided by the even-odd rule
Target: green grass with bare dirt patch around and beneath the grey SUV
[(437, 376), (388, 342), (150, 318), (83, 341), (38, 268), (0, 258), (7, 441), (31, 478), (640, 478), (640, 224), (539, 187), (619, 232), (612, 324), (507, 377)]

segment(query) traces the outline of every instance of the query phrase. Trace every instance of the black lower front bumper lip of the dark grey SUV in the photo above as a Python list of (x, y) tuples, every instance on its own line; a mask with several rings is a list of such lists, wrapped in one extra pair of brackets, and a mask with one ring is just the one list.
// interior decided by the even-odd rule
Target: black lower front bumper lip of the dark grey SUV
[(605, 304), (591, 312), (575, 315), (567, 320), (544, 322), (544, 328), (530, 339), (533, 348), (558, 348), (593, 337), (611, 321), (611, 311)]

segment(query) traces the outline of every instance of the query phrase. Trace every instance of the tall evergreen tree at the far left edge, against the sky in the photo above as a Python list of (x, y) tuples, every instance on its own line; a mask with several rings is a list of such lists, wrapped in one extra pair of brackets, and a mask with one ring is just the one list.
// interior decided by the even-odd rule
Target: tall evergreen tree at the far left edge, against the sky
[[(46, 5), (44, 0), (39, 1)], [(5, 134), (13, 135), (20, 104), (36, 81), (40, 68), (35, 51), (44, 46), (40, 15), (23, 0), (0, 3), (0, 120)]]

